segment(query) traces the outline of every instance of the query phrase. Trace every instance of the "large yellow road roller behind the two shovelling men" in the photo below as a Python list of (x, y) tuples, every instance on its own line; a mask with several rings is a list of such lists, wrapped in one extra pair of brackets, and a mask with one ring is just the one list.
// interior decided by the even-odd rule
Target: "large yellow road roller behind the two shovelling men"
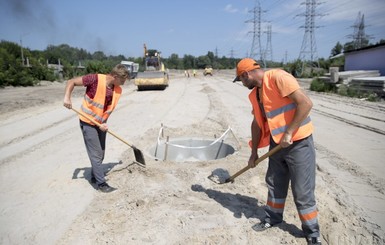
[(138, 72), (135, 85), (138, 91), (143, 89), (166, 89), (168, 73), (161, 60), (160, 52), (156, 49), (147, 49), (144, 44), (144, 72)]

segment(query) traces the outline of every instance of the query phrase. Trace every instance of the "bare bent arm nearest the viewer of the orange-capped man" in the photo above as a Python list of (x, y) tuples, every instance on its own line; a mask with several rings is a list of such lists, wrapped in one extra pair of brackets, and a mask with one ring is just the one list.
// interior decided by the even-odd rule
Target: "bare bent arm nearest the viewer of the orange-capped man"
[(303, 120), (309, 116), (310, 110), (313, 107), (313, 102), (302, 89), (297, 89), (293, 93), (289, 94), (288, 97), (296, 104), (297, 108), (295, 110), (293, 121), (288, 125), (282, 138), (282, 147), (288, 147), (293, 143), (293, 132), (299, 128)]

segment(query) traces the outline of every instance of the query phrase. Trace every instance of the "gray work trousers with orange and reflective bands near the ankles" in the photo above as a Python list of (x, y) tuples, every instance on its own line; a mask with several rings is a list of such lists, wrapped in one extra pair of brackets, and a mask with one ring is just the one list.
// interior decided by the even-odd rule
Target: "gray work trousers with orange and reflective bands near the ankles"
[[(270, 149), (277, 144), (271, 139)], [(315, 189), (315, 149), (313, 137), (293, 142), (269, 157), (266, 173), (268, 200), (265, 221), (278, 224), (283, 220), (283, 210), (289, 182), (306, 237), (319, 237), (318, 211)]]

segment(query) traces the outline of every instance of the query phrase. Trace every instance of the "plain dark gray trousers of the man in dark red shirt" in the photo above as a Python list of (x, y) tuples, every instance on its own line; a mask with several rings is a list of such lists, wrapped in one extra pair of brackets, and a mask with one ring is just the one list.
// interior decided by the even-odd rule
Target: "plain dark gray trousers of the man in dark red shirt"
[(91, 175), (95, 177), (96, 183), (100, 185), (106, 182), (102, 163), (106, 149), (107, 132), (103, 132), (98, 126), (92, 126), (83, 121), (80, 121), (80, 129), (82, 130), (84, 144), (91, 162)]

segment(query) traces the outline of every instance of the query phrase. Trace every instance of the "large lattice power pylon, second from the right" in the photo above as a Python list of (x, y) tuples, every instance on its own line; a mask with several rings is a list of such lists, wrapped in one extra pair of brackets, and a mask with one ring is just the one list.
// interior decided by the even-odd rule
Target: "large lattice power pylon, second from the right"
[(317, 55), (317, 45), (315, 40), (315, 29), (319, 28), (315, 24), (315, 18), (317, 16), (323, 16), (323, 14), (318, 14), (316, 12), (316, 7), (321, 4), (317, 0), (306, 0), (306, 2), (301, 3), (301, 5), (306, 5), (306, 12), (299, 14), (298, 16), (305, 16), (305, 25), (300, 28), (305, 28), (305, 34), (302, 40), (301, 51), (299, 53), (299, 59), (302, 62), (310, 61), (314, 64), (314, 61), (317, 61), (318, 64), (318, 55)]

